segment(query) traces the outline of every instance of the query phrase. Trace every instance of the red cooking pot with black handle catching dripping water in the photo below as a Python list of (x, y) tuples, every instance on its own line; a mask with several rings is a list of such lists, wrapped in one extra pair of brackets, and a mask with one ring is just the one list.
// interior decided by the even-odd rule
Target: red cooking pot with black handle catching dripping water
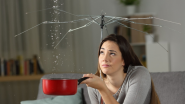
[(74, 95), (77, 92), (77, 86), (89, 77), (80, 79), (62, 79), (62, 78), (43, 78), (42, 89), (47, 95)]

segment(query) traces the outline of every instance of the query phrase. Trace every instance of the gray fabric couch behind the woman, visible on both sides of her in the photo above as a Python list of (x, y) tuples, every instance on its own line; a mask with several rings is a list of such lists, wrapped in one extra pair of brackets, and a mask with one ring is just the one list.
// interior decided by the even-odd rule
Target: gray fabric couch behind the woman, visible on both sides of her
[[(64, 74), (48, 74), (42, 78), (74, 78), (79, 79), (83, 74), (64, 73)], [(156, 92), (159, 96), (161, 104), (185, 104), (185, 71), (179, 72), (158, 72), (151, 73)], [(42, 91), (42, 78), (39, 84), (37, 99), (53, 97), (45, 95)], [(83, 89), (84, 104), (91, 104), (85, 84), (78, 87)]]

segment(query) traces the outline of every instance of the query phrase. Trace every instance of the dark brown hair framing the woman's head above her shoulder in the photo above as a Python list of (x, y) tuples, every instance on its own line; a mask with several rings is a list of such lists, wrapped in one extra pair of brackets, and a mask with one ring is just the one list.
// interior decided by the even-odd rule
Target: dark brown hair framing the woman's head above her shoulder
[[(129, 42), (121, 35), (110, 34), (105, 39), (103, 39), (102, 42), (100, 43), (100, 46), (99, 46), (98, 57), (100, 56), (101, 46), (106, 41), (113, 41), (118, 45), (119, 50), (120, 50), (121, 55), (122, 55), (122, 59), (125, 62), (125, 65), (123, 66), (124, 67), (124, 70), (123, 70), (124, 73), (127, 73), (129, 65), (142, 66), (141, 62), (139, 61), (138, 57), (134, 53), (134, 51), (133, 51), (132, 47), (130, 46)], [(99, 62), (98, 62), (98, 69), (96, 71), (96, 75), (100, 76), (100, 70), (101, 69), (100, 69), (100, 65), (99, 65)], [(103, 78), (105, 78), (106, 74), (101, 73), (101, 76)]]

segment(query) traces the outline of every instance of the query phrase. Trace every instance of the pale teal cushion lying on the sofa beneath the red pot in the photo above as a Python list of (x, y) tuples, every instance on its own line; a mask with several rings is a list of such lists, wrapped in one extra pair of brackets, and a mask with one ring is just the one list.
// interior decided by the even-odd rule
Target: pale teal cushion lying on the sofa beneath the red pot
[(55, 96), (39, 100), (21, 101), (21, 104), (83, 104), (82, 88), (78, 88), (75, 95)]

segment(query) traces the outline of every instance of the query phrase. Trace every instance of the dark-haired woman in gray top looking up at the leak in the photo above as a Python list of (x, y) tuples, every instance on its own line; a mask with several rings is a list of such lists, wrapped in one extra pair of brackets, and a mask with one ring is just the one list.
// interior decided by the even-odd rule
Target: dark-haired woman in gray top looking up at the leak
[(151, 76), (123, 36), (106, 37), (98, 55), (96, 74), (82, 82), (92, 104), (150, 104)]

